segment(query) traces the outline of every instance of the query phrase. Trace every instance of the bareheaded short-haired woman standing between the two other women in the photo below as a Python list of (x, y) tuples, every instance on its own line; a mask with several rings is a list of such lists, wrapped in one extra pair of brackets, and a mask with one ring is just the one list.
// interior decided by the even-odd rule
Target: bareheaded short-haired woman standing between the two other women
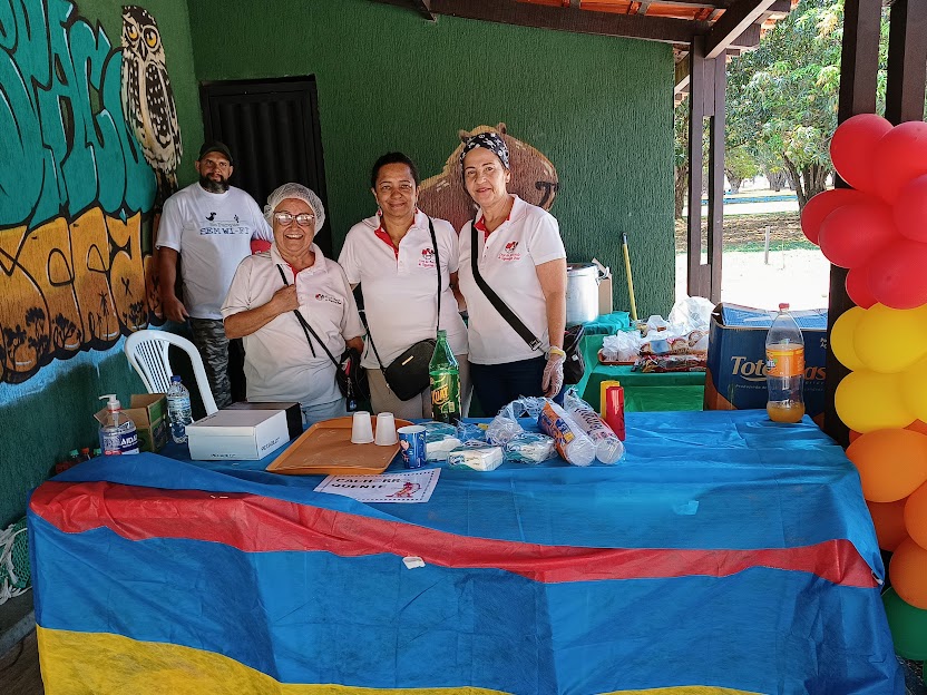
[(431, 417), (430, 389), (400, 400), (382, 370), (414, 343), (436, 336), (440, 305), (440, 327), (460, 365), (466, 414), (470, 378), (467, 327), (456, 297), (457, 234), (449, 222), (418, 208), (419, 173), (402, 153), (388, 153), (374, 163), (370, 188), (379, 209), (351, 227), (338, 262), (351, 286), (360, 284), (363, 294), (369, 333), (361, 364), (368, 370), (373, 411), (407, 420)]

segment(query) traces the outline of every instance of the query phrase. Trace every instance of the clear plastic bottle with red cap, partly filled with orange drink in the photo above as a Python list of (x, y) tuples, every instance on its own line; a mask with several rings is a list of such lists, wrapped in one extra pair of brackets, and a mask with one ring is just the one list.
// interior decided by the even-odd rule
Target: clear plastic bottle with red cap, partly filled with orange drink
[(770, 420), (798, 422), (804, 417), (804, 339), (784, 303), (767, 334), (767, 388)]

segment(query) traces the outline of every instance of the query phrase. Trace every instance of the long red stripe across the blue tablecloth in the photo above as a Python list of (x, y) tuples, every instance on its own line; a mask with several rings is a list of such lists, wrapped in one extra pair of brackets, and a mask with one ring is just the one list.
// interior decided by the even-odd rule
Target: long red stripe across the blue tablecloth
[(242, 492), (160, 490), (110, 482), (46, 482), (35, 513), (67, 534), (106, 527), (129, 540), (187, 538), (248, 552), (391, 552), (442, 567), (491, 567), (543, 583), (725, 577), (751, 567), (804, 571), (845, 586), (877, 586), (847, 539), (797, 548), (700, 550), (582, 548), (491, 540)]

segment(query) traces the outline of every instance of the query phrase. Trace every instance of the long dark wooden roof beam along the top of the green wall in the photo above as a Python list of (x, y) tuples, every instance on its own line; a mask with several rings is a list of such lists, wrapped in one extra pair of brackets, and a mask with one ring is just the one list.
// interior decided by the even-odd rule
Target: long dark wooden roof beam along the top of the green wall
[(696, 35), (706, 33), (710, 27), (709, 22), (704, 21), (615, 14), (515, 0), (430, 0), (430, 8), (433, 14), (462, 19), (666, 43), (689, 43)]

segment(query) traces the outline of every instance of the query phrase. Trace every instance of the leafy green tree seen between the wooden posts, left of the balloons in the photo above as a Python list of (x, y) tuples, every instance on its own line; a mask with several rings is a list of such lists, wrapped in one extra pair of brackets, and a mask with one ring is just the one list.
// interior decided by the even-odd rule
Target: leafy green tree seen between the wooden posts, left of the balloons
[(728, 68), (729, 147), (747, 148), (767, 170), (784, 166), (800, 208), (831, 172), (842, 20), (842, 0), (802, 0)]

